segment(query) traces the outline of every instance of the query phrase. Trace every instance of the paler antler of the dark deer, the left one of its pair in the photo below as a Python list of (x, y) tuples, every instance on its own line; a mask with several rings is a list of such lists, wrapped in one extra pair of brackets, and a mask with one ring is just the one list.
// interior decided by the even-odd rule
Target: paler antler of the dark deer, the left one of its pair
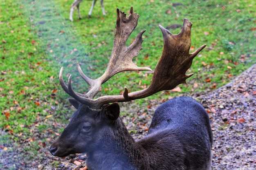
[[(130, 46), (126, 46), (126, 41), (132, 31), (135, 29), (138, 23), (139, 15), (137, 13), (133, 13), (133, 9), (130, 9), (130, 15), (126, 18), (126, 14), (124, 12), (119, 11), (117, 9), (117, 24), (115, 29), (115, 40), (114, 45), (110, 57), (110, 61), (108, 63), (108, 67), (103, 75), (97, 79), (90, 79), (87, 77), (79, 63), (77, 63), (77, 69), (81, 75), (81, 77), (90, 85), (90, 90), (85, 95), (81, 95), (80, 93), (75, 93), (80, 97), (86, 97), (92, 99), (97, 93), (100, 91), (101, 84), (110, 79), (113, 75), (122, 72), (122, 71), (152, 71), (148, 67), (138, 67), (135, 63), (132, 62), (132, 59), (139, 54), (139, 51), (142, 49), (142, 34), (145, 32), (141, 31), (135, 40), (130, 44)], [(62, 71), (62, 70), (61, 70)], [(61, 75), (61, 74), (60, 74)], [(68, 91), (68, 87), (65, 85), (62, 76), (59, 77), (61, 86), (68, 94), (72, 93)], [(76, 99), (76, 96), (72, 96)]]

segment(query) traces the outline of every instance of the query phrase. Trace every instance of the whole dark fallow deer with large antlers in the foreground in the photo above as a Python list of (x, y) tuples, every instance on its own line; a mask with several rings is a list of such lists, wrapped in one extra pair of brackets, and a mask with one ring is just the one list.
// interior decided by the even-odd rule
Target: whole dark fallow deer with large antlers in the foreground
[[(191, 26), (184, 19), (182, 30), (173, 35), (159, 25), (164, 37), (162, 57), (155, 68), (152, 82), (146, 89), (123, 95), (107, 95), (94, 99), (101, 84), (121, 71), (151, 71), (138, 67), (132, 59), (142, 49), (141, 31), (126, 46), (126, 41), (137, 26), (139, 15), (130, 9), (126, 17), (117, 9), (115, 40), (107, 69), (97, 79), (88, 78), (79, 64), (78, 71), (90, 90), (77, 93), (71, 84), (63, 81), (63, 68), (59, 73), (62, 88), (73, 98), (70, 103), (77, 109), (61, 136), (52, 144), (54, 156), (65, 157), (74, 153), (86, 153), (89, 170), (210, 170), (213, 136), (209, 116), (201, 104), (190, 97), (177, 97), (155, 110), (148, 135), (135, 141), (119, 117), (117, 102), (128, 102), (171, 90), (186, 83), (192, 74), (186, 71), (193, 58), (205, 47), (189, 54)], [(112, 103), (112, 104), (110, 104)]]

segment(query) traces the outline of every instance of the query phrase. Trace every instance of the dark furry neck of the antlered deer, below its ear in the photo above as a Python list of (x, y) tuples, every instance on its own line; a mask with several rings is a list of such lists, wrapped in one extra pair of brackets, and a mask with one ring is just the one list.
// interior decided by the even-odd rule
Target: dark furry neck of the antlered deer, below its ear
[[(89, 170), (141, 170), (148, 169), (148, 155), (129, 134), (120, 118), (111, 132), (105, 133), (104, 142), (95, 146), (88, 155)], [(143, 167), (141, 167), (143, 166)], [(111, 170), (112, 170), (111, 169)]]

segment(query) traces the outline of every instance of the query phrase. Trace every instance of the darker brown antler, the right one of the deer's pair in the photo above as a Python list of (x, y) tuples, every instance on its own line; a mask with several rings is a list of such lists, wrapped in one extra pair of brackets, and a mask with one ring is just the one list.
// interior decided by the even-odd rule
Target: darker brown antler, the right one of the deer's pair
[(106, 103), (127, 102), (148, 97), (159, 91), (171, 90), (179, 84), (186, 83), (186, 79), (193, 75), (193, 73), (186, 75), (186, 71), (191, 66), (193, 58), (206, 46), (203, 45), (194, 53), (189, 54), (191, 26), (192, 23), (185, 18), (182, 31), (177, 35), (173, 35), (163, 26), (159, 25), (164, 38), (164, 49), (162, 57), (155, 68), (150, 86), (144, 90), (132, 93), (128, 93), (128, 89), (125, 87), (123, 95), (103, 96), (94, 99), (94, 107), (99, 108)]

